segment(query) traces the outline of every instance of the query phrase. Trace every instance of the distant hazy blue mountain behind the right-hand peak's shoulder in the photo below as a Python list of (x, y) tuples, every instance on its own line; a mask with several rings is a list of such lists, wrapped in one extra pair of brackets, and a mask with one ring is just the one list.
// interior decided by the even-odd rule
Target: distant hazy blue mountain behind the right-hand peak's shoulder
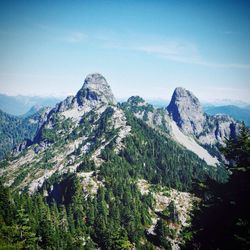
[(244, 121), (250, 126), (250, 108), (249, 106), (238, 107), (234, 105), (227, 106), (206, 106), (204, 111), (209, 115), (226, 114), (233, 117), (235, 120)]

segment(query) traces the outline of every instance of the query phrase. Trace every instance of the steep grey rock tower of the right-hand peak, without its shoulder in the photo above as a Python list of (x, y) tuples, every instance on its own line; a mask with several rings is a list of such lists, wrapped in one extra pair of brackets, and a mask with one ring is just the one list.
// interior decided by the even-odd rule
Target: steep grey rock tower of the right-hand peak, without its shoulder
[(192, 92), (176, 88), (167, 110), (185, 133), (199, 135), (203, 131), (206, 117), (198, 98)]

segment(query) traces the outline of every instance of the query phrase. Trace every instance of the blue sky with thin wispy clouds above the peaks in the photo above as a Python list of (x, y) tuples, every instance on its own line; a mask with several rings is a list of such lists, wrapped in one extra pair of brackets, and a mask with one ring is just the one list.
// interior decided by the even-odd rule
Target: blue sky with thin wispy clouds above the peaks
[(250, 101), (250, 1), (0, 1), (0, 92)]

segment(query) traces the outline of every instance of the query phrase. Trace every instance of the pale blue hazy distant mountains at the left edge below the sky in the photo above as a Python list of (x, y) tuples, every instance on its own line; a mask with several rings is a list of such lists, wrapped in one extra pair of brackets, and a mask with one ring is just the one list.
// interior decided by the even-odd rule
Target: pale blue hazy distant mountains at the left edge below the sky
[(26, 115), (33, 106), (54, 107), (60, 99), (39, 96), (8, 96), (0, 94), (0, 109), (11, 115)]

